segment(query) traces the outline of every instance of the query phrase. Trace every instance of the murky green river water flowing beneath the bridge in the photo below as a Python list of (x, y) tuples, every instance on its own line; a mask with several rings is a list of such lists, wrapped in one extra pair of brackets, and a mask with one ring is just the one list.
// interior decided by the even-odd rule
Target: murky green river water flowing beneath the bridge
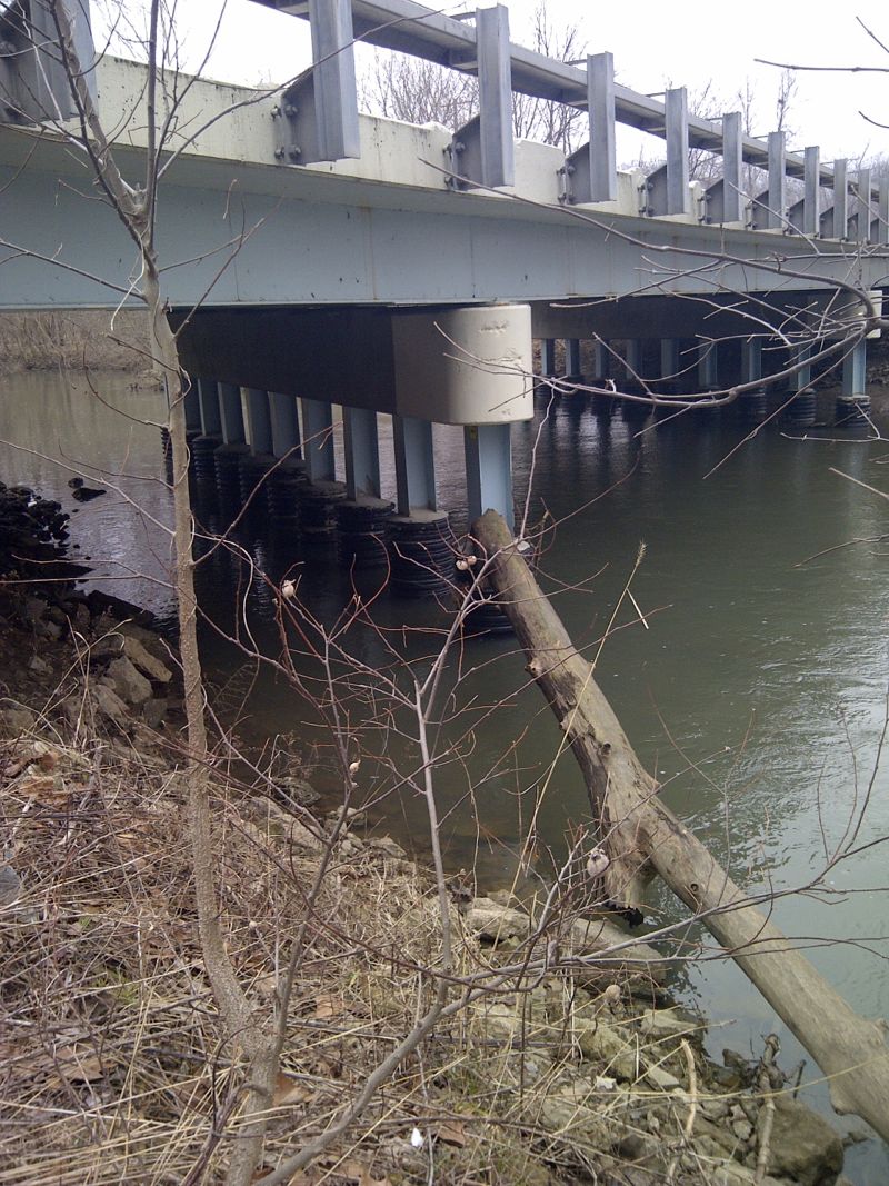
[[(89, 466), (100, 466), (117, 474), (116, 491), (77, 510), (73, 538), (104, 587), (168, 614), (162, 528), (170, 497), (159, 434), (128, 419), (160, 420), (160, 397), (132, 391), (120, 378), (98, 383), (121, 413), (53, 376), (5, 380), (0, 477), (26, 482), (71, 510), (72, 473), (89, 476)], [(887, 431), (881, 413), (877, 422)], [(382, 453), (390, 459), (386, 433), (383, 426)], [(545, 509), (559, 524), (541, 562), (543, 582), (557, 595), (575, 640), (599, 651), (600, 682), (665, 784), (670, 805), (750, 888), (806, 887), (830, 863), (819, 892), (776, 903), (776, 920), (800, 937), (857, 1009), (889, 1016), (889, 846), (882, 842), (889, 835), (889, 761), (876, 770), (889, 680), (889, 541), (878, 537), (889, 506), (832, 472), (889, 489), (889, 444), (837, 439), (843, 434), (832, 431), (794, 440), (768, 428), (711, 472), (741, 435), (736, 423), (716, 416), (637, 435), (618, 417), (603, 423), (563, 402), (548, 417), (541, 412), (533, 425), (516, 426), (517, 485), (524, 490), (529, 482), (536, 442), (531, 517)], [(443, 429), (436, 452), (441, 504), (460, 525), (466, 510), (459, 431)], [(390, 468), (385, 480), (391, 489)], [(212, 500), (200, 514), (216, 522)], [(262, 538), (260, 528), (241, 533), (245, 553), (276, 579), (296, 565), (312, 610), (332, 621), (348, 595), (347, 574), (324, 556), (301, 555), (292, 542)], [(645, 559), (632, 589), (647, 630), (628, 600), (620, 600), (641, 542)], [(247, 572), (216, 555), (202, 574), (203, 605), (231, 626), (238, 587), (245, 591), (247, 621), (260, 645), (271, 649), (274, 598), (258, 584), (238, 586)], [(375, 578), (360, 578), (365, 593), (373, 585)], [(613, 614), (618, 629), (600, 651), (596, 640)], [(396, 631), (388, 637), (399, 653), (422, 665), (428, 639), (398, 627), (442, 625), (447, 616), (428, 601), (384, 595), (375, 617)], [(386, 663), (386, 649), (371, 631), (352, 631), (350, 644), (371, 668)], [(204, 645), (217, 683), (228, 683), (218, 694), (220, 710), (238, 706), (241, 734), (262, 742), (295, 733), (313, 779), (335, 793), (312, 707), (281, 681), (262, 674), (254, 680), (215, 631), (205, 631)], [(452, 867), (474, 869), (491, 886), (513, 876), (523, 827), (544, 783), (541, 868), (548, 852), (563, 850), (567, 829), (583, 822), (586, 798), (570, 757), (556, 757), (558, 733), (539, 695), (522, 687), (514, 640), (466, 642), (452, 678), (455, 672), (461, 682), (437, 737), (442, 750), (459, 740), (454, 760), (437, 776), (443, 833)], [(500, 707), (492, 713), (492, 704)], [(362, 712), (356, 703), (356, 734)], [(396, 764), (408, 760), (398, 723), (364, 738)], [(417, 798), (386, 796), (390, 784), (370, 760), (359, 783), (390, 830), (423, 855), (427, 825)], [(652, 920), (676, 917), (673, 903), (655, 893)], [(775, 1031), (785, 1063), (801, 1057), (743, 976), (709, 958), (706, 935), (691, 938), (701, 943), (699, 958), (682, 973), (680, 990), (696, 994), (712, 1020), (714, 1048), (759, 1050), (761, 1035)], [(816, 1078), (810, 1065), (805, 1079)], [(824, 1089), (813, 1089), (811, 1098), (824, 1104)], [(852, 1148), (846, 1160), (857, 1186), (889, 1181), (889, 1158), (877, 1142)]]

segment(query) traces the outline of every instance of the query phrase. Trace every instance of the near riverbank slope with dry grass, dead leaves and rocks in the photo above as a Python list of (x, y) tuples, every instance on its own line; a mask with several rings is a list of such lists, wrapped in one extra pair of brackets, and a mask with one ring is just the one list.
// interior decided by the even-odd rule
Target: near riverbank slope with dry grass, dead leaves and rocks
[[(0, 593), (0, 1166), (14, 1167), (0, 1182), (219, 1181), (222, 1128), (237, 1127), (243, 1069), (220, 1042), (192, 904), (175, 652), (124, 611), (65, 586)], [(338, 830), (335, 816), (239, 784), (222, 757), (212, 779), (226, 944), (258, 1012), (306, 890), (320, 886), (270, 1168), (411, 1031), (441, 918), (429, 872), (360, 817)], [(535, 942), (519, 903), (449, 888), (450, 1000), (461, 982), (488, 990), (442, 1021), (296, 1182), (396, 1186), (434, 1172), (436, 1182), (749, 1186), (759, 1161), (765, 1184), (837, 1181), (830, 1124), (793, 1098), (768, 1047), (712, 1064), (704, 1022), (672, 1006), (655, 952), (608, 957), (610, 924), (567, 904), (563, 970), (546, 973), (555, 933)]]

